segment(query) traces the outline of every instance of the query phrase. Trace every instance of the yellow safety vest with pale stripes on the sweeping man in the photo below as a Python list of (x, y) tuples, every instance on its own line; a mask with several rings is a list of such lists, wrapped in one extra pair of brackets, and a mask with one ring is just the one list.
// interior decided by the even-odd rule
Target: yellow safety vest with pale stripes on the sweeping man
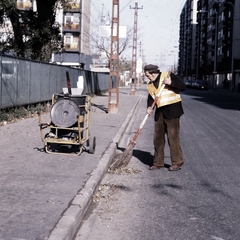
[[(161, 77), (160, 77), (160, 81), (159, 81), (159, 85), (158, 85), (157, 89), (155, 88), (153, 83), (149, 83), (147, 85), (148, 92), (152, 96), (153, 99), (155, 99), (155, 96), (160, 91), (160, 88), (162, 86), (164, 78), (168, 77), (168, 75), (169, 75), (168, 72), (161, 73)], [(173, 89), (171, 89), (170, 86), (166, 85), (165, 88), (163, 89), (161, 96), (159, 97), (159, 99), (157, 101), (157, 107), (159, 108), (162, 106), (166, 106), (166, 105), (181, 102), (181, 101), (182, 101), (182, 99), (181, 99), (181, 96), (178, 93), (178, 91), (174, 91)]]

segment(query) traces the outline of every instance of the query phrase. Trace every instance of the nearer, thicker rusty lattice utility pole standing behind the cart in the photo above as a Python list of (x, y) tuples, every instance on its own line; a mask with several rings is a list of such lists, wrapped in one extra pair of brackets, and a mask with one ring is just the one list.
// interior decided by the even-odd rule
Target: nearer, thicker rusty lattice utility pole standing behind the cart
[(112, 1), (108, 113), (118, 113), (119, 102), (119, 0)]

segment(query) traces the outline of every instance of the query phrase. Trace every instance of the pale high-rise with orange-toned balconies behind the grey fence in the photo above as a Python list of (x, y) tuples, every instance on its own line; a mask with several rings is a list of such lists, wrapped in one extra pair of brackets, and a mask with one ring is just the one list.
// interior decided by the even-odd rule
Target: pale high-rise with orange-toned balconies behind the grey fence
[(72, 0), (66, 8), (58, 8), (56, 23), (64, 48), (53, 54), (52, 62), (90, 70), (90, 6), (90, 0)]

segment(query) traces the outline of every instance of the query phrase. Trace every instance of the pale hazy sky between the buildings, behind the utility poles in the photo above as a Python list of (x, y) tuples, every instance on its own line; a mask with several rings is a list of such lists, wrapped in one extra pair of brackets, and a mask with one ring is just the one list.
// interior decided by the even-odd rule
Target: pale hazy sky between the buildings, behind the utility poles
[[(119, 0), (120, 26), (127, 29), (134, 27), (134, 0)], [(177, 64), (179, 20), (186, 0), (151, 0), (138, 2), (137, 21), (137, 59), (142, 49), (143, 60), (146, 64), (155, 64), (161, 71), (170, 70)], [(131, 8), (130, 8), (131, 6)], [(112, 18), (112, 0), (91, 1), (91, 24), (101, 23), (101, 16)], [(141, 47), (140, 47), (141, 42)], [(132, 46), (132, 40), (130, 41)], [(132, 59), (132, 48), (123, 53), (127, 60)]]

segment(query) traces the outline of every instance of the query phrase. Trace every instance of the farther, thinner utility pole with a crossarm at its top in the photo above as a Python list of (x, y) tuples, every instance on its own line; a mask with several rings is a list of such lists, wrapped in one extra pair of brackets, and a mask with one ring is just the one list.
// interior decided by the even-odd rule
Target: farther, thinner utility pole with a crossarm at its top
[(134, 28), (133, 28), (133, 47), (132, 47), (132, 84), (131, 84), (131, 94), (135, 93), (136, 86), (136, 61), (137, 61), (137, 20), (138, 20), (138, 9), (143, 9), (138, 7), (138, 2), (135, 2), (135, 7), (131, 7), (130, 9), (134, 9)]

